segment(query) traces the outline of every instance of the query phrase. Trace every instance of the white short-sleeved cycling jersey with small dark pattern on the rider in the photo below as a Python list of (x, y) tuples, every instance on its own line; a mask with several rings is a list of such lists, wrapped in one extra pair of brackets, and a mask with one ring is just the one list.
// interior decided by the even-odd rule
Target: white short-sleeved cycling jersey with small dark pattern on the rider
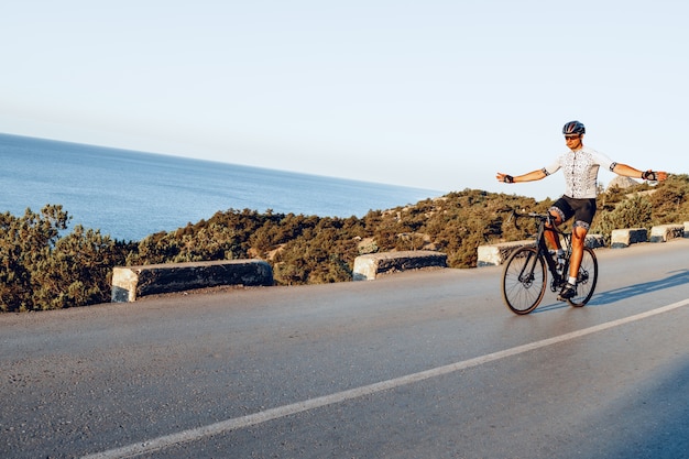
[(612, 171), (616, 165), (617, 163), (603, 153), (582, 145), (581, 150), (570, 150), (561, 154), (555, 163), (544, 167), (543, 172), (550, 175), (561, 168), (565, 174), (565, 195), (575, 199), (590, 199), (595, 198), (598, 194), (599, 167)]

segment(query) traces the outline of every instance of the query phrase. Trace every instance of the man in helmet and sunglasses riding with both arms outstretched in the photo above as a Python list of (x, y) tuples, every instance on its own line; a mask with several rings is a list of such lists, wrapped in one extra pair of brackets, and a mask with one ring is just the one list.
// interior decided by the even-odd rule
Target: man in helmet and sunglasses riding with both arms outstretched
[[(584, 125), (579, 121), (569, 121), (562, 128), (565, 143), (569, 151), (560, 155), (547, 167), (529, 172), (524, 175), (512, 176), (497, 173), (499, 182), (513, 184), (517, 182), (533, 182), (547, 177), (562, 170), (565, 174), (565, 194), (560, 197), (549, 212), (557, 226), (575, 217), (572, 226), (572, 253), (569, 265), (569, 280), (560, 292), (560, 298), (571, 298), (577, 294), (577, 274), (583, 256), (583, 243), (595, 215), (595, 195), (598, 190), (598, 170), (600, 166), (608, 167), (617, 175), (645, 181), (664, 181), (665, 172), (638, 171), (632, 166), (611, 161), (604, 154), (583, 145)], [(554, 231), (546, 231), (545, 236), (550, 247), (562, 252), (559, 238)]]

